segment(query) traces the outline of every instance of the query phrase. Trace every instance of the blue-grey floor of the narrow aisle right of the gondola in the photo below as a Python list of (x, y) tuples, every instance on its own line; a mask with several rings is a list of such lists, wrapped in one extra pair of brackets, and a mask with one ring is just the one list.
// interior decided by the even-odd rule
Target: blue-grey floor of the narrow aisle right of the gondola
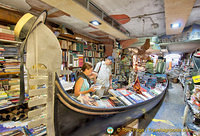
[(142, 136), (181, 136), (184, 93), (181, 84), (169, 84), (164, 101)]

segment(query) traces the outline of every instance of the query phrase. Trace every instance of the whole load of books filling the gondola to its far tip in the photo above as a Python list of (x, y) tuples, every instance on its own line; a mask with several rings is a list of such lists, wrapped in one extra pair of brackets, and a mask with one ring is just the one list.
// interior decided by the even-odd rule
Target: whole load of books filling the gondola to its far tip
[[(104, 108), (131, 106), (158, 96), (164, 91), (167, 85), (163, 83), (157, 83), (156, 76), (144, 76), (143, 78), (146, 79), (147, 82), (144, 82), (143, 84), (139, 83), (140, 91), (134, 90), (137, 89), (134, 88), (134, 86), (129, 86), (127, 89), (109, 89), (109, 95), (106, 97), (94, 99), (94, 97), (87, 96), (86, 98), (86, 96), (84, 96), (82, 97), (81, 103)], [(164, 78), (165, 77), (163, 77), (163, 79)], [(151, 79), (151, 81), (149, 79)]]

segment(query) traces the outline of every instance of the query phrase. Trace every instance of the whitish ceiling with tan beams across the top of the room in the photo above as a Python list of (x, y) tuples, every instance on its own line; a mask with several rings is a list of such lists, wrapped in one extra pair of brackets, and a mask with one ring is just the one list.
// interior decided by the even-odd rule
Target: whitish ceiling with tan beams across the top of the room
[[(183, 28), (200, 24), (200, 0), (91, 0), (98, 9), (116, 19), (121, 28), (129, 32), (124, 34), (105, 22), (105, 17), (96, 17), (97, 12), (95, 13), (94, 9), (85, 9), (84, 1), (86, 0), (1, 0), (0, 4), (36, 15), (46, 9), (49, 21), (62, 24), (76, 33), (99, 41), (166, 35), (172, 23), (169, 20), (172, 18), (182, 18)], [(89, 23), (91, 19), (98, 20), (102, 24), (93, 26)]]

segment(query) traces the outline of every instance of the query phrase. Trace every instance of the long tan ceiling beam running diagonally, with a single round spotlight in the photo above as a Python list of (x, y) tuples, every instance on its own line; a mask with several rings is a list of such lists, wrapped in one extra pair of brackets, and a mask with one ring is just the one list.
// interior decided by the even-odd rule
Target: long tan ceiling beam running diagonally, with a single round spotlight
[(47, 3), (50, 6), (53, 6), (65, 13), (70, 14), (73, 17), (80, 19), (81, 21), (90, 24), (90, 21), (98, 20), (101, 22), (101, 25), (95, 26), (99, 30), (110, 34), (111, 36), (119, 39), (128, 39), (129, 37), (126, 36), (124, 33), (120, 32), (119, 30), (113, 28), (108, 23), (103, 21), (102, 19), (95, 16), (93, 13), (85, 9), (83, 6), (79, 5), (73, 0), (41, 0)]

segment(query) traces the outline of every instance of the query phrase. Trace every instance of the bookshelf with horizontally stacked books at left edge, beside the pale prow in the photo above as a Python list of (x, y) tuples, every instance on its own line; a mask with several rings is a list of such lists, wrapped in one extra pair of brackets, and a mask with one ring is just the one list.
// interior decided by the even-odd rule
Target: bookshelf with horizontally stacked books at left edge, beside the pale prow
[[(1, 22), (2, 23), (2, 22)], [(30, 123), (28, 114), (32, 112), (25, 94), (25, 101), (20, 102), (20, 45), (15, 41), (14, 32), (9, 24), (0, 23), (0, 135), (28, 135), (27, 124)], [(13, 26), (12, 26), (13, 27)], [(23, 75), (23, 74), (21, 74)], [(26, 76), (24, 76), (26, 78)], [(26, 80), (25, 80), (26, 84)], [(27, 84), (26, 84), (27, 85)], [(27, 86), (25, 87), (25, 89)], [(26, 92), (27, 93), (27, 92)], [(29, 116), (30, 117), (30, 116)], [(46, 126), (40, 126), (42, 133), (46, 133)], [(44, 131), (43, 131), (44, 130)], [(32, 132), (31, 132), (32, 133)]]

